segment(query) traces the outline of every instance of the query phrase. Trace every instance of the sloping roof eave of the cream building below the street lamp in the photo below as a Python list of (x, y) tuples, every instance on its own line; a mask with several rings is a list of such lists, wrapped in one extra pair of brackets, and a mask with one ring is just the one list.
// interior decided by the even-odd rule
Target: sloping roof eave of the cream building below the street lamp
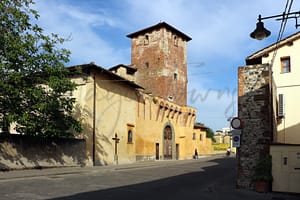
[[(292, 34), (292, 35), (290, 35), (290, 36), (288, 36), (288, 37), (286, 37), (286, 38), (284, 38), (282, 40), (280, 40), (278, 42), (278, 46), (277, 47), (280, 48), (280, 47), (282, 47), (284, 45), (291, 44), (292, 42), (294, 42), (295, 40), (298, 40), (299, 38), (300, 38), (300, 31), (297, 32), (297, 33), (295, 33), (295, 34)], [(271, 45), (269, 45), (269, 46), (267, 46), (267, 47), (265, 47), (265, 48), (263, 48), (263, 49), (261, 49), (261, 50), (259, 50), (259, 51), (257, 51), (257, 52), (255, 52), (255, 53), (253, 53), (253, 54), (251, 54), (250, 56), (248, 56), (246, 58), (246, 60), (252, 60), (252, 59), (256, 59), (256, 58), (262, 57), (262, 56), (264, 56), (264, 55), (266, 55), (266, 54), (274, 51), (275, 48), (276, 48), (276, 42), (273, 43), (273, 44), (271, 44)]]

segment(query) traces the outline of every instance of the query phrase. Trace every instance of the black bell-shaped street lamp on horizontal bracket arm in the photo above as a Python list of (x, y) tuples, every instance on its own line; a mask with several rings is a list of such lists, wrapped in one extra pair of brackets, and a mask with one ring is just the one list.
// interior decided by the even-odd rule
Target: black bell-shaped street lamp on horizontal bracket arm
[(256, 23), (256, 29), (250, 34), (250, 37), (252, 37), (253, 39), (257, 39), (257, 40), (262, 40), (262, 39), (268, 37), (269, 35), (271, 35), (271, 32), (264, 27), (264, 23), (262, 22), (262, 20), (264, 20), (264, 19), (277, 18), (276, 20), (282, 21), (285, 19), (294, 18), (296, 20), (295, 26), (296, 26), (296, 28), (298, 28), (300, 26), (300, 24), (298, 24), (299, 17), (300, 17), (300, 11), (282, 13), (280, 15), (273, 15), (273, 16), (269, 16), (269, 17), (261, 17), (261, 15), (258, 15), (258, 22)]

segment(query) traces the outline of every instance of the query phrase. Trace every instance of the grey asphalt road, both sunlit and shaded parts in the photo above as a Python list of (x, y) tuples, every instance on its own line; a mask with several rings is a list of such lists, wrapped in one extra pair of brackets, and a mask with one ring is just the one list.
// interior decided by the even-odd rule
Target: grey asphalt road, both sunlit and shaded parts
[(0, 199), (298, 199), (237, 190), (235, 168), (235, 158), (219, 157), (78, 169), (70, 173), (60, 169), (57, 173), (0, 178)]

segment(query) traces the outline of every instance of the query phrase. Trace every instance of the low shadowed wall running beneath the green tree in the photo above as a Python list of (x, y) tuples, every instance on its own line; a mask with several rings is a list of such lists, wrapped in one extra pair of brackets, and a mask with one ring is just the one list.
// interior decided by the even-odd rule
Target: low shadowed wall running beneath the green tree
[(0, 135), (0, 170), (83, 166), (85, 140)]

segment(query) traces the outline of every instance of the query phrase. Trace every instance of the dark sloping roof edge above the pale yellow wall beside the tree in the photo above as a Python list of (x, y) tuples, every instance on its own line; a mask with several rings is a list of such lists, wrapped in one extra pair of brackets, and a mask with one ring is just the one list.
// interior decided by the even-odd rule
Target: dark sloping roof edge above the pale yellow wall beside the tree
[(118, 80), (120, 81), (121, 83), (123, 84), (126, 84), (132, 88), (135, 88), (135, 89), (144, 89), (142, 86), (140, 85), (137, 85), (136, 83), (134, 83), (133, 81), (129, 81), (107, 69), (104, 69), (103, 67), (100, 67), (94, 63), (90, 63), (90, 64), (82, 64), (82, 65), (75, 65), (75, 66), (70, 66), (70, 67), (67, 67), (67, 69), (71, 72), (75, 72), (76, 73), (76, 68), (80, 68), (82, 70), (82, 72), (84, 73), (89, 73), (90, 70), (95, 70), (96, 72), (98, 73), (103, 73), (103, 74), (106, 74), (108, 76), (110, 76), (113, 80)]

